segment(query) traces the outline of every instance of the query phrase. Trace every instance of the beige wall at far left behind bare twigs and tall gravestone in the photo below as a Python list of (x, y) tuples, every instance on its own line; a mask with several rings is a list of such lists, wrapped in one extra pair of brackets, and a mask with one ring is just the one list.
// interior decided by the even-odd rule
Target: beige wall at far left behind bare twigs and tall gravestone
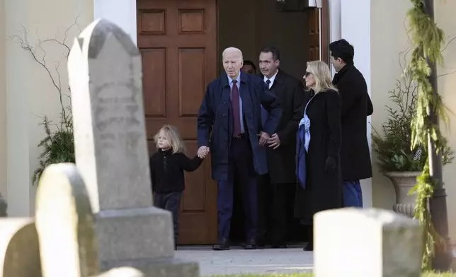
[[(93, 0), (0, 0), (5, 1), (4, 25), (0, 25), (6, 37), (23, 35), (23, 28), (28, 30), (28, 40), (33, 47), (38, 46), (38, 38), (64, 37), (65, 30), (77, 22), (84, 28), (93, 20)], [(1, 3), (1, 2), (0, 2)], [(0, 10), (1, 11), (1, 10)], [(22, 27), (23, 26), (23, 27)], [(0, 31), (1, 32), (1, 31)], [(71, 47), (79, 28), (72, 28), (68, 34), (67, 45)], [(1, 37), (1, 33), (0, 33)], [(11, 216), (26, 216), (33, 213), (35, 187), (31, 186), (33, 171), (38, 167), (39, 141), (44, 137), (40, 126), (41, 119), (47, 115), (58, 120), (59, 95), (52, 86), (47, 72), (31, 57), (30, 53), (21, 49), (20, 45), (10, 40), (5, 43), (6, 61), (0, 56), (0, 105), (5, 89), (2, 90), (1, 78), (6, 78), (6, 114), (7, 127), (3, 127), (0, 106), (0, 178), (6, 161), (8, 212)], [(1, 48), (0, 48), (1, 49)], [(54, 42), (43, 45), (46, 61), (52, 75), (57, 78), (55, 66), (59, 64), (62, 76), (62, 88), (67, 93), (67, 64), (64, 58), (65, 49)], [(38, 59), (43, 52), (37, 48)], [(6, 76), (6, 77), (4, 77)], [(4, 93), (2, 93), (4, 92)], [(68, 100), (67, 100), (68, 103)], [(7, 144), (3, 136), (7, 137)], [(6, 147), (7, 146), (7, 147)], [(4, 155), (2, 149), (6, 148)], [(0, 189), (4, 179), (0, 179)]]

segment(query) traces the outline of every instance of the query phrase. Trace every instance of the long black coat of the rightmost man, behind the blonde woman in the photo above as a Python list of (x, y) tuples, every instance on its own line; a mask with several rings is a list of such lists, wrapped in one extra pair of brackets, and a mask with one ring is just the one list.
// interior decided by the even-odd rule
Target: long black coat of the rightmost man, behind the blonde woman
[(372, 177), (369, 144), (367, 143), (367, 116), (374, 108), (367, 93), (363, 74), (347, 64), (333, 79), (342, 99), (341, 163), (344, 181)]

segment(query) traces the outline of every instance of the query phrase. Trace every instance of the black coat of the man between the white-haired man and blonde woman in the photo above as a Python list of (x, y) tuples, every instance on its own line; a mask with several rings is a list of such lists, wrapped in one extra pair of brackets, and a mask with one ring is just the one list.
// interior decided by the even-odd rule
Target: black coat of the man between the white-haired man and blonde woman
[(280, 146), (275, 150), (266, 146), (270, 182), (295, 183), (296, 132), (302, 119), (304, 88), (301, 81), (279, 69), (270, 91), (275, 94), (282, 107), (282, 117), (275, 130)]

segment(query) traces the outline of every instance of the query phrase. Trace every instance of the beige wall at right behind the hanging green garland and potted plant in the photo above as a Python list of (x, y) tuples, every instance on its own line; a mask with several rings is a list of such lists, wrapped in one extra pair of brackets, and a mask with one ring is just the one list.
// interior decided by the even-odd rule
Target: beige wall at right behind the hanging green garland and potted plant
[[(410, 7), (409, 0), (382, 0), (371, 1), (371, 80), (372, 102), (374, 114), (372, 125), (381, 130), (381, 124), (387, 115), (384, 105), (389, 104), (388, 90), (394, 88), (397, 78), (401, 76), (399, 66), (399, 52), (410, 47), (406, 36), (406, 11)], [(394, 8), (392, 8), (394, 6)], [(445, 35), (455, 37), (456, 25), (454, 16), (456, 1), (435, 1), (436, 21), (443, 28)], [(385, 20), (387, 16), (387, 20)], [(445, 67), (439, 69), (439, 74), (456, 71), (456, 41), (445, 49)], [(445, 105), (456, 112), (456, 73), (439, 78), (439, 93), (443, 95)], [(450, 129), (444, 129), (450, 146), (456, 150), (456, 113), (450, 114)], [(374, 154), (375, 159), (375, 154)], [(450, 223), (450, 237), (456, 241), (456, 162), (444, 168), (445, 188), (448, 194), (448, 218)], [(394, 189), (388, 179), (382, 176), (375, 165), (372, 178), (373, 204), (377, 207), (391, 208), (394, 204)]]

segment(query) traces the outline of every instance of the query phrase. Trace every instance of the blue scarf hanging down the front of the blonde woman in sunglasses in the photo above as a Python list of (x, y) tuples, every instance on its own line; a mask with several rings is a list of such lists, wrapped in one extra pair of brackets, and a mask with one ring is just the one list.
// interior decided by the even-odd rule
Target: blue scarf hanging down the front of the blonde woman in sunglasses
[[(312, 98), (314, 98), (314, 96), (312, 96)], [(312, 101), (312, 98), (310, 98), (309, 102)], [(307, 152), (309, 152), (310, 143), (310, 119), (307, 117), (307, 106), (309, 105), (309, 102), (307, 102), (307, 105), (304, 108), (304, 115), (300, 121), (296, 134), (296, 176), (302, 189), (306, 188), (306, 155)]]

